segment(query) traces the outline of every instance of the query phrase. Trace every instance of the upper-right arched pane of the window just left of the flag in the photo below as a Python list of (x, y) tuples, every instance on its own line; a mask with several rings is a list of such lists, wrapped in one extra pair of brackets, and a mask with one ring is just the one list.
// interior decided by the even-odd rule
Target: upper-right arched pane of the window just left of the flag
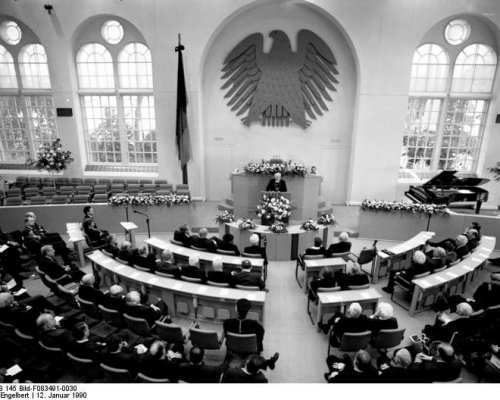
[(141, 43), (130, 43), (118, 55), (118, 75), (121, 88), (152, 89), (151, 53)]

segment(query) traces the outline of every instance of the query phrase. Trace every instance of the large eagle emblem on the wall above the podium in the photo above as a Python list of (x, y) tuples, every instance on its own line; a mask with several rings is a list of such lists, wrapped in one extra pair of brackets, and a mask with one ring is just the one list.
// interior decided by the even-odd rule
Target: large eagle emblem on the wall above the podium
[(254, 33), (231, 50), (224, 60), (222, 90), (244, 125), (260, 121), (263, 126), (307, 128), (311, 119), (328, 111), (328, 90), (338, 84), (337, 62), (329, 46), (315, 33), (303, 29), (292, 51), (285, 32), (273, 30), (271, 50), (264, 53), (264, 36)]

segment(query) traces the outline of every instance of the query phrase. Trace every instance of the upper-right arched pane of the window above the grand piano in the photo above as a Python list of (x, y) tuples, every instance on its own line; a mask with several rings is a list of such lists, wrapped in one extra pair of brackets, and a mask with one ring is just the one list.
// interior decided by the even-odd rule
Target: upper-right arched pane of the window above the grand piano
[(472, 44), (458, 55), (451, 91), (491, 93), (497, 66), (496, 53), (489, 46)]

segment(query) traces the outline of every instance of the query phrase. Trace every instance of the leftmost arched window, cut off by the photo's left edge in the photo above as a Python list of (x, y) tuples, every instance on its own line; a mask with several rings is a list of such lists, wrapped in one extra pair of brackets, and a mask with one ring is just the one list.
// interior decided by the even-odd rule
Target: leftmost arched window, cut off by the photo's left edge
[(14, 21), (0, 22), (2, 163), (24, 164), (58, 137), (47, 55), (37, 40)]

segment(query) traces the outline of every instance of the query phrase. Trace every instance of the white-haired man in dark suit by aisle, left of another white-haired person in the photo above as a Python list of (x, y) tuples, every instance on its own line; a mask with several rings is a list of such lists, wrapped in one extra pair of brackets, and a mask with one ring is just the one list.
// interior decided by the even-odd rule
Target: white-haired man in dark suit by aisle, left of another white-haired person
[(368, 317), (363, 314), (363, 309), (359, 303), (351, 303), (345, 314), (335, 313), (326, 324), (318, 322), (318, 326), (328, 333), (330, 327), (333, 328), (332, 343), (334, 347), (340, 346), (342, 336), (346, 332), (364, 332), (368, 330)]

